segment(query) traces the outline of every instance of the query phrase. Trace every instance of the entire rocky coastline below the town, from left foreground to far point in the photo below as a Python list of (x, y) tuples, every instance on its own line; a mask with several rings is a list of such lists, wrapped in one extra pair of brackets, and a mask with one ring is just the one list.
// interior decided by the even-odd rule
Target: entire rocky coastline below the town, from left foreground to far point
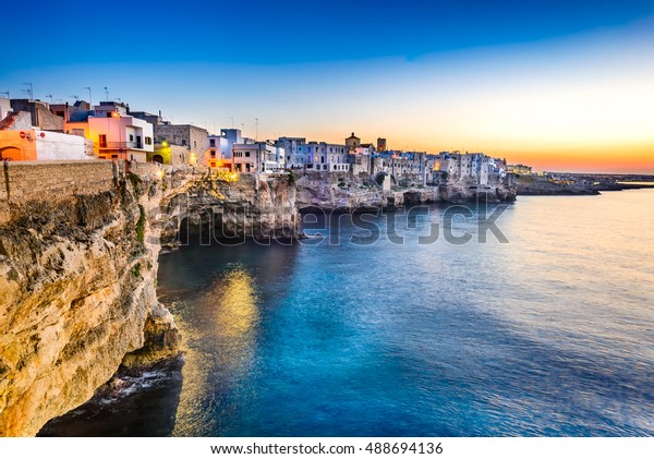
[[(52, 166), (13, 165), (11, 170), (20, 170), (22, 167), (31, 171), (45, 168), (46, 171)], [(61, 167), (70, 169), (77, 166)], [(307, 183), (302, 181), (304, 178), (290, 183), (286, 177), (259, 178), (242, 174), (237, 182), (226, 182), (199, 168), (161, 168), (152, 164), (138, 165), (133, 172), (126, 174), (124, 169), (112, 171), (110, 162), (84, 167), (102, 168), (101, 171), (97, 171), (97, 190), (90, 189), (87, 190), (87, 194), (80, 194), (76, 188), (57, 183), (58, 193), (68, 193), (64, 204), (44, 201), (45, 196), (51, 194), (49, 192), (27, 189), (23, 197), (14, 195), (13, 201), (8, 203), (10, 205), (7, 207), (7, 221), (12, 224), (4, 228), (5, 233), (9, 231), (8, 238), (0, 241), (5, 254), (0, 258), (0, 267), (16, 274), (8, 276), (10, 282), (3, 288), (13, 295), (13, 299), (10, 297), (13, 302), (10, 303), (11, 314), (33, 316), (31, 324), (36, 328), (23, 329), (20, 321), (10, 321), (14, 328), (7, 328), (10, 325), (5, 327), (5, 330), (10, 330), (3, 338), (5, 349), (15, 350), (13, 353), (5, 353), (7, 357), (3, 355), (3, 359), (7, 359), (3, 362), (7, 363), (3, 363), (2, 371), (9, 375), (5, 379), (9, 383), (0, 388), (4, 394), (9, 394), (5, 398), (9, 402), (2, 412), (7, 427), (2, 427), (0, 423), (0, 432), (5, 435), (35, 434), (39, 423), (70, 411), (88, 399), (116, 373), (121, 363), (142, 366), (177, 354), (180, 338), (174, 319), (158, 301), (154, 287), (160, 250), (175, 245), (184, 224), (186, 228), (198, 230), (201, 233), (202, 228), (208, 228), (210, 231), (220, 228), (221, 234), (237, 238), (302, 239), (299, 216), (312, 208), (319, 212), (349, 213), (356, 209), (392, 210), (413, 204), (464, 204), (477, 202), (480, 198), (492, 203), (513, 202), (517, 191), (506, 182), (494, 182), (481, 188), (472, 181), (460, 180), (447, 181), (436, 186), (384, 189), (378, 183), (373, 184), (360, 178), (349, 179), (351, 182), (348, 183), (341, 180), (342, 174), (327, 174), (318, 176), (325, 179), (322, 186), (312, 186), (311, 178), (305, 180)], [(37, 214), (31, 214), (37, 208)], [(23, 221), (23, 226), (15, 226), (16, 221)], [(46, 222), (50, 232), (44, 232), (43, 222)], [(41, 225), (40, 237), (33, 228), (35, 225)], [(23, 227), (27, 230), (21, 231), (21, 234), (25, 234), (19, 237), (17, 228)], [(13, 239), (16, 240), (12, 242), (15, 245), (12, 249), (8, 242)], [(85, 250), (89, 243), (93, 250)], [(74, 277), (70, 269), (66, 270), (66, 264), (58, 258), (58, 253), (63, 251), (65, 254), (71, 244), (75, 247), (75, 253), (70, 255), (75, 259), (73, 267), (86, 266), (89, 263), (96, 266), (111, 256), (113, 277), (101, 278), (100, 270), (95, 273), (94, 269), (85, 270), (86, 275), (95, 276), (92, 280), (83, 281)], [(24, 253), (29, 251), (22, 247), (38, 247), (37, 255), (45, 261), (27, 263)], [(120, 256), (117, 257), (117, 254)], [(68, 256), (64, 255), (64, 259)], [(88, 259), (92, 256), (98, 259)], [(52, 263), (63, 268), (48, 269)], [(29, 275), (29, 269), (34, 266), (41, 266), (43, 271), (37, 283), (34, 283), (34, 276)], [(121, 279), (126, 280), (121, 283)], [(70, 311), (61, 315), (57, 309), (48, 310), (48, 321), (60, 323), (58, 326), (63, 331), (56, 336), (46, 336), (39, 328), (47, 326), (38, 318), (39, 307), (43, 302), (50, 302), (52, 294), (58, 294), (57, 288), (59, 291), (66, 291), (65, 298), (61, 300), (62, 304), (58, 307)], [(120, 321), (112, 318), (111, 310), (102, 312), (95, 322), (86, 322), (84, 315), (73, 314), (81, 305), (98, 314), (98, 304), (104, 304), (102, 307), (108, 306), (102, 302), (102, 292), (106, 289), (112, 289), (114, 307), (128, 311), (128, 318), (133, 316), (137, 319), (128, 319), (121, 325)], [(77, 331), (68, 331), (71, 327)], [(105, 334), (109, 333), (120, 338), (104, 338)], [(38, 345), (22, 347), (22, 340), (34, 341), (34, 336), (38, 337)], [(57, 340), (57, 346), (50, 349), (49, 339)], [(106, 354), (107, 347), (111, 349), (111, 359), (107, 359), (101, 374), (93, 374), (93, 369), (84, 366), (87, 354), (95, 352), (88, 349), (89, 342), (98, 346), (97, 353), (101, 355)], [(47, 355), (44, 352), (47, 352)], [(65, 365), (71, 363), (66, 355), (75, 355), (71, 362), (78, 372), (90, 372), (86, 376), (87, 379), (72, 379), (70, 375), (74, 375), (75, 371), (65, 370)], [(56, 379), (48, 376), (52, 371), (57, 372)], [(47, 385), (31, 386), (31, 377), (37, 373), (41, 374), (40, 381), (47, 382)], [(82, 383), (83, 386), (80, 385)], [(39, 418), (23, 413), (20, 400), (24, 398), (24, 394), (21, 395), (21, 391), (37, 390), (31, 397), (38, 398), (43, 394), (53, 394), (55, 389), (55, 389), (58, 385), (64, 385), (69, 392), (76, 391), (77, 395), (65, 400), (48, 399), (44, 403), (52, 404), (47, 409), (33, 407), (34, 413), (38, 413)], [(32, 418), (23, 419), (26, 415)], [(22, 424), (25, 422), (28, 426)]]

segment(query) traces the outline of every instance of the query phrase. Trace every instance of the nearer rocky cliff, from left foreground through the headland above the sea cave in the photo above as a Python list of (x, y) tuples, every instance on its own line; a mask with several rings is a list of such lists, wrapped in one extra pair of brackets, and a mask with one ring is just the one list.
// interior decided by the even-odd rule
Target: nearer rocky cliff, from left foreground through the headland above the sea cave
[(12, 189), (0, 203), (0, 435), (35, 435), (121, 364), (177, 354), (174, 321), (155, 287), (161, 242), (179, 243), (182, 222), (214, 219), (232, 235), (296, 234), (287, 178), (230, 183), (197, 170), (134, 168), (114, 170), (102, 191)]

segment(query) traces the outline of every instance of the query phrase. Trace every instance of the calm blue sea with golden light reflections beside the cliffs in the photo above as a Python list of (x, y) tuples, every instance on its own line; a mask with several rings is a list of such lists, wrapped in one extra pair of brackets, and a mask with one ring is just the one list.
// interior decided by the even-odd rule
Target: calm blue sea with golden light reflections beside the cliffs
[(508, 243), (479, 242), (475, 207), (447, 242), (447, 206), (425, 209), (395, 214), (403, 244), (386, 216), (334, 217), (305, 244), (162, 255), (183, 367), (44, 434), (654, 435), (654, 190), (519, 197)]

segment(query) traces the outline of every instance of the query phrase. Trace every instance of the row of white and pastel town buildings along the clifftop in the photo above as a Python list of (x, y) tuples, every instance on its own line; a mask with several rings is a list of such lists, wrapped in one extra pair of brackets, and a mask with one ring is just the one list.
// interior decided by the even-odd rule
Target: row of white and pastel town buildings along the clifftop
[[(48, 142), (45, 142), (45, 138)], [(47, 144), (47, 148), (43, 145)], [(57, 144), (56, 146), (53, 146)], [(39, 153), (40, 148), (40, 153)], [(44, 153), (44, 148), (47, 149)], [(90, 106), (49, 105), (40, 100), (0, 99), (0, 159), (126, 159), (161, 164), (203, 165), (241, 173), (286, 171), (347, 172), (396, 179), (423, 178), (424, 183), (474, 178), (487, 184), (493, 174), (521, 172), (506, 160), (482, 153), (387, 149), (386, 138), (361, 142), (354, 133), (343, 144), (283, 136), (261, 142), (239, 129), (209, 134), (192, 124), (172, 124), (161, 113), (131, 111), (123, 102)]]

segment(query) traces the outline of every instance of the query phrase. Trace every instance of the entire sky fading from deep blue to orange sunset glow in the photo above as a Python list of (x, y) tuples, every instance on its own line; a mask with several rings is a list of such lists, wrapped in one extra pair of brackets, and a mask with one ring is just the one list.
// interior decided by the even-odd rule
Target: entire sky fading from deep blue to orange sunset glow
[(354, 132), (536, 170), (654, 173), (651, 0), (69, 0), (32, 2), (28, 21), (0, 48), (11, 97), (32, 83), (41, 100), (90, 87), (97, 102), (107, 87), (133, 110), (259, 140)]

